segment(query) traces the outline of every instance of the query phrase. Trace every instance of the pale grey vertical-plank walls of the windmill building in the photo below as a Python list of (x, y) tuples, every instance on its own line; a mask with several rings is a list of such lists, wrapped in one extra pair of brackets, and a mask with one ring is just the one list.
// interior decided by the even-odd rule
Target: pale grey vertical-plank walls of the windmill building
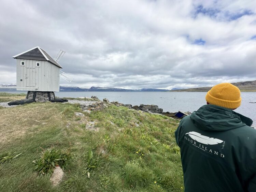
[[(20, 65), (21, 61), (25, 62), (25, 66)], [(36, 67), (37, 62), (40, 67)], [(25, 87), (17, 90), (58, 92), (59, 73), (60, 68), (49, 61), (17, 59), (17, 87)]]

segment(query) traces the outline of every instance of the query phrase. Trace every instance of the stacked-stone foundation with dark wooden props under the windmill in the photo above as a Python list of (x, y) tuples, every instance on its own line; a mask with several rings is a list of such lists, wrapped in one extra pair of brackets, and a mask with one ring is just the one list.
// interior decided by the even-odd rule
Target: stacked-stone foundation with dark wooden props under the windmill
[(35, 102), (46, 102), (55, 99), (53, 91), (28, 91), (26, 99), (32, 99)]

